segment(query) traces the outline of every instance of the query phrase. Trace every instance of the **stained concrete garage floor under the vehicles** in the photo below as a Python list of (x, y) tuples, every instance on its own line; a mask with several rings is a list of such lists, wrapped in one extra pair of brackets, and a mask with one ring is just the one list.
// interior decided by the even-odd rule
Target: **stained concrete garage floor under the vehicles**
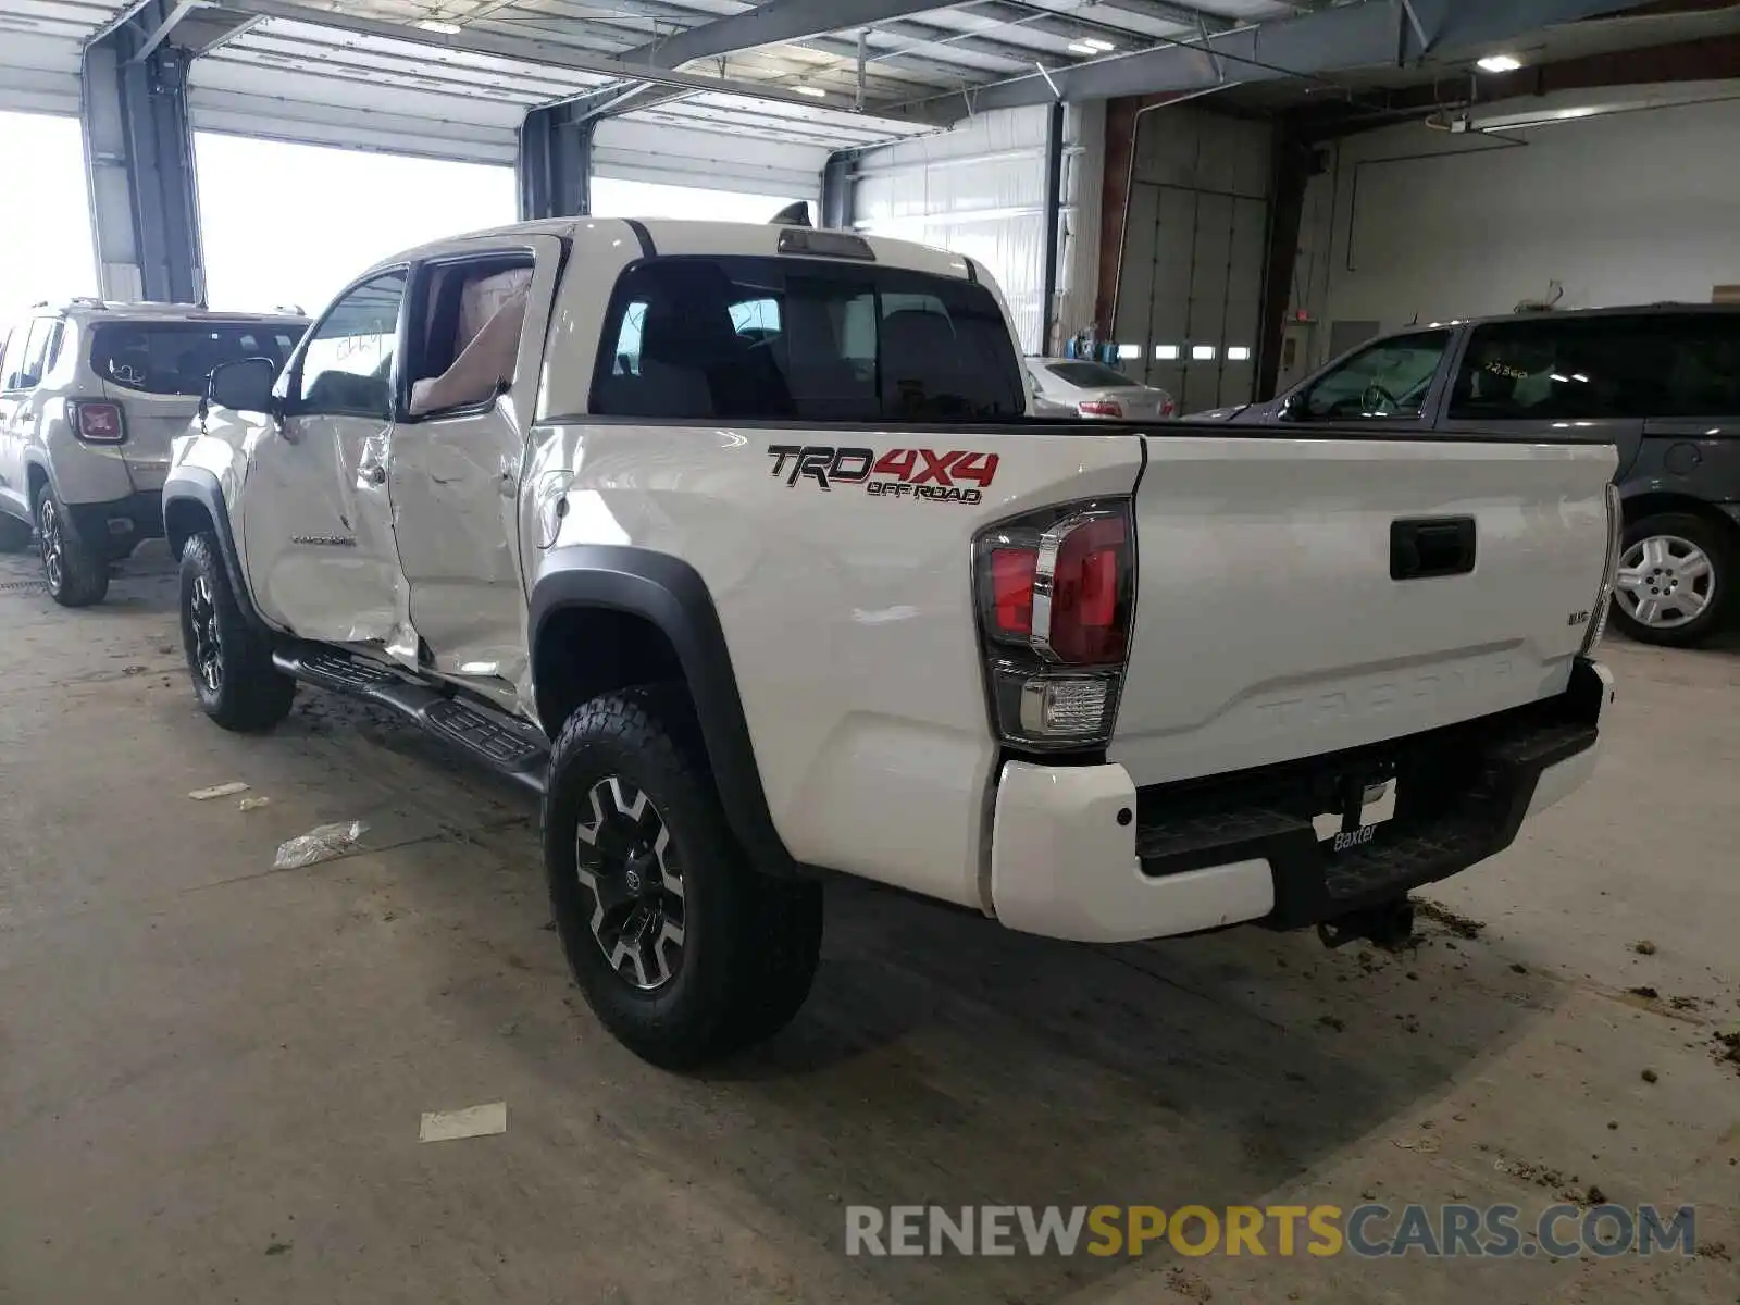
[[(1476, 940), (1093, 950), (846, 886), (797, 1023), (679, 1079), (571, 988), (519, 792), (310, 691), (273, 736), (212, 727), (160, 550), (89, 612), (33, 574), (0, 559), (5, 1305), (1740, 1300), (1731, 649), (1610, 644), (1596, 781), (1429, 894)], [(270, 806), (186, 797), (228, 780)], [(362, 853), (271, 872), (351, 818)], [(484, 1101), (505, 1134), (418, 1141)], [(1590, 1185), (1695, 1202), (1703, 1253), (842, 1255), (853, 1202), (1533, 1211)]]

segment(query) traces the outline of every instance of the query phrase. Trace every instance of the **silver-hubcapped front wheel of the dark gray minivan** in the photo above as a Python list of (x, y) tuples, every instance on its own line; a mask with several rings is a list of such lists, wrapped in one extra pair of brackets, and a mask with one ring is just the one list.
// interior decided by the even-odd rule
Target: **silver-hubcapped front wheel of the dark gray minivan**
[(1716, 632), (1731, 576), (1726, 536), (1690, 512), (1644, 517), (1625, 531), (1613, 623), (1644, 644), (1690, 647)]

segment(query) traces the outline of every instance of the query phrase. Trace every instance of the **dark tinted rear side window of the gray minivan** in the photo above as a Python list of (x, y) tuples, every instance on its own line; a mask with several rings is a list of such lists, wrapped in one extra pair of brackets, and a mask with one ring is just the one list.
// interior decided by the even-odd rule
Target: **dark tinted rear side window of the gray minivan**
[(1740, 313), (1482, 325), (1456, 372), (1462, 421), (1740, 416)]

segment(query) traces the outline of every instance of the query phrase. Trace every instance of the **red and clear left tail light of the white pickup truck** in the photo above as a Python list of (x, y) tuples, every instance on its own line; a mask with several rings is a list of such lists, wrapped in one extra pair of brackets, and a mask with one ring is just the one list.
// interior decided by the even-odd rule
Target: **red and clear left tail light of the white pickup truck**
[(994, 525), (976, 541), (974, 567), (999, 736), (1028, 748), (1110, 740), (1134, 614), (1129, 501)]

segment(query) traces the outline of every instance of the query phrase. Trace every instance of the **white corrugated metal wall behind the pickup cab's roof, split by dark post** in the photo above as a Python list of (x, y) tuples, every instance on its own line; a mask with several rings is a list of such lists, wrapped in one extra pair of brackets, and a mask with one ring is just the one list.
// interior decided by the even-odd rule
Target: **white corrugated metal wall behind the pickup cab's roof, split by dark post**
[[(853, 226), (941, 245), (983, 264), (1009, 301), (1021, 346), (1041, 351), (1046, 285), (1046, 127), (1049, 108), (980, 113), (954, 130), (873, 150), (858, 160)], [(1093, 311), (1094, 226), (1105, 106), (1065, 113), (1058, 318), (1072, 332)], [(1098, 129), (1098, 130), (1096, 130)], [(1086, 296), (1086, 303), (1082, 301)], [(1075, 318), (1081, 317), (1082, 322)]]

